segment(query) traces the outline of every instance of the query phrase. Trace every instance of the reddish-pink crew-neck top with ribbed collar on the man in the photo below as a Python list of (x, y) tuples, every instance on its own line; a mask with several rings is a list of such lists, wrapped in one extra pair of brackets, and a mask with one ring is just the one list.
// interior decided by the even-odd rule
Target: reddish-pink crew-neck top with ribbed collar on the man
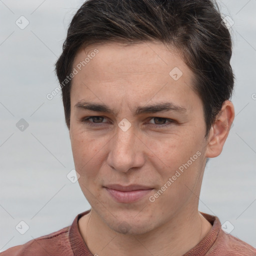
[[(88, 212), (78, 214), (70, 226), (11, 247), (1, 252), (0, 256), (93, 256), (78, 229), (78, 219)], [(226, 234), (216, 216), (201, 214), (212, 224), (212, 228), (183, 256), (256, 256), (256, 248)]]

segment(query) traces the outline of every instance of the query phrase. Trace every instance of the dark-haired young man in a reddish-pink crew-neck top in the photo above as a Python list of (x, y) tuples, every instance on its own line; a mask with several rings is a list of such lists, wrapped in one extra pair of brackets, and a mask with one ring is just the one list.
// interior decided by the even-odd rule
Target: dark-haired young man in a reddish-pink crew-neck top
[(198, 211), (234, 119), (231, 38), (211, 0), (88, 0), (56, 62), (91, 209), (1, 255), (256, 255)]

